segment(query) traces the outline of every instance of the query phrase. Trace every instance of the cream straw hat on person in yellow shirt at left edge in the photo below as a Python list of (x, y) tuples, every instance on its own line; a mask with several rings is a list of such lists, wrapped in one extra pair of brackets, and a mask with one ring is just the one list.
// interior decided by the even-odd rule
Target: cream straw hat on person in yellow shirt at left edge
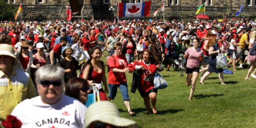
[(14, 50), (9, 44), (0, 44), (0, 55), (6, 55), (6, 56), (11, 56), (14, 58), (14, 63), (13, 65), (17, 65), (18, 61), (16, 57), (14, 56)]

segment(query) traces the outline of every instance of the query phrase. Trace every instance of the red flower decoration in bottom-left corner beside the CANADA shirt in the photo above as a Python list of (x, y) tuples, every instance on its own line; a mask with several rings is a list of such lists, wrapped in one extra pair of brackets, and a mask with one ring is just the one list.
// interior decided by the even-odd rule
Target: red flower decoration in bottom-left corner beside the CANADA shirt
[(4, 128), (20, 128), (22, 126), (22, 122), (13, 115), (7, 115), (6, 120), (3, 120), (1, 124)]

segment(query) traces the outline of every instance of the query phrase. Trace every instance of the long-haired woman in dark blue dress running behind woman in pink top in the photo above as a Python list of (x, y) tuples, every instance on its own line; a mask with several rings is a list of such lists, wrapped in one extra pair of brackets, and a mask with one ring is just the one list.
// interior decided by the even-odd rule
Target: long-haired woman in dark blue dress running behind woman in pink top
[(211, 32), (209, 41), (206, 45), (206, 49), (209, 51), (209, 68), (208, 71), (202, 76), (200, 83), (203, 85), (204, 84), (204, 79), (208, 77), (210, 74), (213, 72), (217, 72), (219, 74), (219, 80), (221, 81), (221, 85), (225, 85), (224, 80), (223, 80), (223, 68), (217, 69), (217, 60), (216, 56), (218, 56), (218, 53), (221, 52), (219, 50), (217, 43), (216, 43), (216, 34), (213, 34)]

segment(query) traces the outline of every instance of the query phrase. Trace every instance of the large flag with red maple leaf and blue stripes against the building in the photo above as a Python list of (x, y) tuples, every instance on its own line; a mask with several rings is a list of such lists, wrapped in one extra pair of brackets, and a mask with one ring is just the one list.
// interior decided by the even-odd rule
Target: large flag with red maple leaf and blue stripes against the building
[(140, 3), (119, 3), (117, 4), (119, 17), (149, 16), (151, 0)]

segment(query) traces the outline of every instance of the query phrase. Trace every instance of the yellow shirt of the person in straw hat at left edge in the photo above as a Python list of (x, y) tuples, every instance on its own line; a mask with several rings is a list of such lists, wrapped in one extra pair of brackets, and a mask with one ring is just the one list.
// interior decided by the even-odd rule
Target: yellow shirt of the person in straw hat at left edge
[(37, 92), (28, 73), (13, 69), (8, 78), (0, 70), (0, 118), (6, 119), (17, 104), (35, 96)]

